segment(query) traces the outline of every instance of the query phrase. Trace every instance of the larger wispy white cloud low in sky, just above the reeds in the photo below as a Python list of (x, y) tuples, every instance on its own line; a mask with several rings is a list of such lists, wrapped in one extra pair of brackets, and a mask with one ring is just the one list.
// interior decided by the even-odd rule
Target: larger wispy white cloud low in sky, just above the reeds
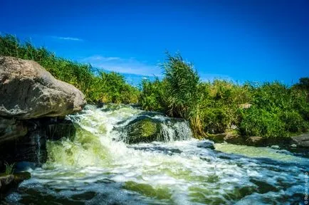
[(105, 56), (90, 56), (81, 60), (83, 63), (90, 63), (95, 68), (114, 71), (117, 73), (130, 73), (135, 75), (160, 76), (161, 68), (157, 65), (149, 65), (134, 58), (118, 58)]

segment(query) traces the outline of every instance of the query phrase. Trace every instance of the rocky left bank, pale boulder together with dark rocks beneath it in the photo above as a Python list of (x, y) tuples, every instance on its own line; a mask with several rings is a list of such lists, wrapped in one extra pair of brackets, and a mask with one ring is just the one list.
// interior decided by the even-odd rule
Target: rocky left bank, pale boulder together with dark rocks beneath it
[[(64, 116), (85, 104), (80, 90), (56, 80), (38, 63), (1, 56), (0, 173), (5, 163), (46, 162), (46, 140), (73, 136), (75, 127)], [(2, 175), (1, 194), (22, 181)]]

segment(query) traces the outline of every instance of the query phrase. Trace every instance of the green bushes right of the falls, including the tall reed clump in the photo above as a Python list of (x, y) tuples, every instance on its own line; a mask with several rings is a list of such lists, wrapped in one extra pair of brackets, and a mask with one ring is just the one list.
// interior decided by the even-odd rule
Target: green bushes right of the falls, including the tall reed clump
[(142, 82), (140, 105), (189, 120), (197, 137), (235, 129), (243, 136), (286, 137), (309, 128), (308, 78), (287, 87), (278, 82), (237, 85), (201, 82), (191, 63), (167, 53), (163, 80)]

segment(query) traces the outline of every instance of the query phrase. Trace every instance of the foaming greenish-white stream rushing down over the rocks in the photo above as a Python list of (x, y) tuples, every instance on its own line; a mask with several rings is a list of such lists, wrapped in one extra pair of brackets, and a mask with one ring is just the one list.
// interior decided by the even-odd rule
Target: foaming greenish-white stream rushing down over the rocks
[[(125, 143), (120, 128), (141, 115), (161, 120), (165, 142)], [(68, 117), (75, 139), (47, 142), (48, 162), (29, 168), (31, 179), (4, 204), (303, 203), (308, 158), (268, 147), (208, 149), (187, 122), (171, 125), (168, 117), (128, 105), (88, 105)]]

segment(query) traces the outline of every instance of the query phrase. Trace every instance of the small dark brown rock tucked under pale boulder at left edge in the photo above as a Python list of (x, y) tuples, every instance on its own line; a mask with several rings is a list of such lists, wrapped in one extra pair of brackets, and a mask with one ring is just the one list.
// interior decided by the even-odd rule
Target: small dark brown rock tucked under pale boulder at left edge
[(0, 143), (25, 136), (27, 132), (28, 127), (22, 121), (0, 117)]

